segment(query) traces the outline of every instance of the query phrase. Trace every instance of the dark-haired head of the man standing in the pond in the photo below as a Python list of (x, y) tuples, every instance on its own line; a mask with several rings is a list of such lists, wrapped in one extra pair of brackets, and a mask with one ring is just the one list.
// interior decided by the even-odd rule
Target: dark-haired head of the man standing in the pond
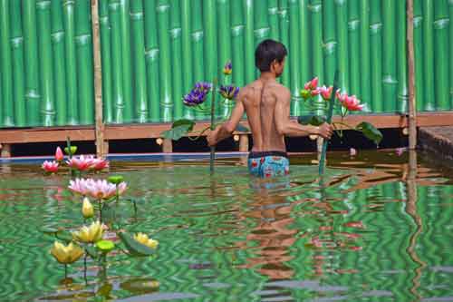
[(256, 47), (255, 66), (261, 73), (275, 73), (280, 76), (284, 70), (284, 58), (288, 52), (284, 44), (267, 39)]

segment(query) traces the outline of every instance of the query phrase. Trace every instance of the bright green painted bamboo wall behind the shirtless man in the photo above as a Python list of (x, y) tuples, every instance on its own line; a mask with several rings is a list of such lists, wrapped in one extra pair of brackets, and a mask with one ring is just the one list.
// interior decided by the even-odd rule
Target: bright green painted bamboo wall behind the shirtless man
[[(403, 0), (100, 0), (104, 120), (171, 122), (206, 117), (180, 99), (193, 83), (257, 76), (255, 46), (289, 50), (281, 82), (291, 112), (314, 75), (358, 95), (367, 112), (405, 112), (408, 100)], [(453, 109), (453, 2), (414, 0), (417, 108)], [(93, 123), (90, 0), (0, 0), (0, 127)], [(218, 108), (219, 116), (232, 103)]]

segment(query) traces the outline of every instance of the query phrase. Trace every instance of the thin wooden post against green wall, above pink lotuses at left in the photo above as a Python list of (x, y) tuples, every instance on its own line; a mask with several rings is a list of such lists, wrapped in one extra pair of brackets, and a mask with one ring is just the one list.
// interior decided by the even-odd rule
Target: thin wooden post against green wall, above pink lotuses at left
[(104, 122), (102, 118), (102, 72), (101, 72), (101, 44), (99, 33), (99, 0), (92, 0), (92, 45), (94, 58), (94, 112), (96, 156), (104, 157)]

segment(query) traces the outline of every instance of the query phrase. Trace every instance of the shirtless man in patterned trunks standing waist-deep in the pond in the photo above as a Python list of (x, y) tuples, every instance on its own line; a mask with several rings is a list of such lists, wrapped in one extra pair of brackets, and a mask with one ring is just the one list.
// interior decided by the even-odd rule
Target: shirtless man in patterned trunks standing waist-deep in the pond
[(209, 132), (207, 143), (214, 146), (229, 137), (236, 129), (244, 112), (252, 131), (254, 146), (248, 155), (248, 170), (261, 177), (289, 173), (289, 161), (284, 136), (320, 135), (330, 139), (333, 127), (323, 123), (319, 127), (301, 125), (290, 120), (291, 93), (275, 79), (284, 71), (284, 44), (265, 40), (255, 50), (255, 66), (259, 79), (241, 89), (230, 119)]

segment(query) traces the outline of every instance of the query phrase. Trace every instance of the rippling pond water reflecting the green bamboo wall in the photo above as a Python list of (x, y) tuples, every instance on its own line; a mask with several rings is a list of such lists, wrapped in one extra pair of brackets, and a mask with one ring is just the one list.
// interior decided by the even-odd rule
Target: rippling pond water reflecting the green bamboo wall
[[(313, 155), (258, 181), (244, 159), (111, 161), (129, 184), (116, 225), (159, 240), (64, 269), (43, 228), (77, 229), (69, 176), (0, 165), (2, 301), (453, 301), (453, 176), (408, 152)], [(412, 167), (408, 162), (412, 163)], [(105, 177), (107, 173), (94, 177)], [(321, 184), (320, 184), (321, 183)], [(109, 237), (117, 240), (115, 233)]]

